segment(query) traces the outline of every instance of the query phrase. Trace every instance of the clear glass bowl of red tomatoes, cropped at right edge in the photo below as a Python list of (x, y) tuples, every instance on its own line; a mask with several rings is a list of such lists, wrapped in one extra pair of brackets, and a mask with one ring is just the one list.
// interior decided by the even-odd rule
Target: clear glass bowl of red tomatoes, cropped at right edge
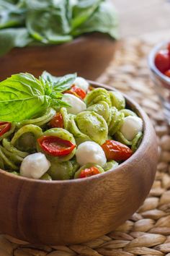
[[(169, 40), (170, 41), (170, 40)], [(148, 56), (148, 66), (151, 72), (151, 79), (154, 82), (155, 90), (164, 108), (164, 115), (170, 125), (170, 77), (161, 73), (155, 65), (155, 57), (158, 51), (166, 49), (169, 41), (156, 45)]]

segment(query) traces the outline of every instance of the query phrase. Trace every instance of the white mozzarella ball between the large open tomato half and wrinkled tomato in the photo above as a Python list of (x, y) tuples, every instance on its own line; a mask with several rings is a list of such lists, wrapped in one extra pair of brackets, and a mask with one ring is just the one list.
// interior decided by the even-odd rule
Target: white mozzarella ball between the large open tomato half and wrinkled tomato
[(104, 166), (107, 163), (107, 158), (100, 145), (96, 142), (86, 141), (77, 148), (76, 161), (80, 166), (84, 166), (86, 163), (96, 163), (99, 166)]

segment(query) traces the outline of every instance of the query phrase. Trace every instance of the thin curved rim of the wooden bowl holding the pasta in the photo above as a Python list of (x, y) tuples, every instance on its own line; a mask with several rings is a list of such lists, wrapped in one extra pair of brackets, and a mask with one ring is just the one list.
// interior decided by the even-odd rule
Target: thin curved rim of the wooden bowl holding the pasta
[[(94, 88), (104, 88), (107, 90), (115, 90), (115, 91), (119, 92), (119, 90), (116, 90), (115, 88), (112, 88), (109, 85), (104, 85), (102, 83), (94, 82), (91, 80), (88, 80), (88, 81), (89, 81), (90, 85), (94, 86)], [(133, 155), (131, 155), (130, 158), (128, 158), (128, 160), (124, 161), (123, 163), (120, 163), (120, 165), (117, 166), (116, 168), (113, 168), (113, 169), (106, 171), (102, 174), (97, 174), (97, 175), (90, 176), (90, 177), (87, 177), (84, 179), (66, 179), (66, 180), (53, 180), (53, 181), (42, 180), (42, 179), (30, 179), (30, 178), (27, 178), (24, 176), (17, 176), (17, 175), (11, 174), (10, 172), (5, 171), (1, 168), (0, 168), (0, 174), (3, 174), (4, 176), (10, 177), (12, 179), (19, 179), (22, 182), (29, 182), (29, 183), (35, 182), (37, 184), (68, 184), (68, 183), (77, 184), (77, 183), (82, 183), (85, 181), (88, 182), (88, 181), (91, 181), (94, 179), (102, 178), (103, 176), (108, 175), (112, 171), (114, 171), (114, 172), (121, 171), (124, 166), (132, 163), (133, 161), (135, 161), (135, 159), (138, 159), (138, 156), (141, 155), (141, 153), (145, 152), (145, 148), (146, 148), (145, 145), (148, 144), (149, 129), (151, 126), (150, 121), (148, 119), (148, 115), (146, 114), (145, 111), (143, 111), (142, 108), (140, 108), (139, 104), (136, 103), (135, 101), (133, 101), (133, 99), (131, 99), (128, 95), (125, 95), (124, 93), (122, 93), (122, 95), (125, 97), (126, 102), (128, 104), (130, 104), (131, 106), (133, 106), (135, 108), (135, 111), (138, 112), (138, 115), (140, 116), (140, 118), (143, 119), (143, 139), (140, 142), (140, 146), (135, 151), (135, 153), (133, 153)]]

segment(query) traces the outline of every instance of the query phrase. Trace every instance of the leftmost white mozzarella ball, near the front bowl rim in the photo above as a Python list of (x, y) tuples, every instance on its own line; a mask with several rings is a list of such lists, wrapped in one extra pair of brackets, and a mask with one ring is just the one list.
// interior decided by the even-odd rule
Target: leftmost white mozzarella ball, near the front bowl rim
[(24, 158), (20, 167), (20, 174), (27, 178), (40, 179), (49, 168), (50, 162), (45, 155), (42, 153), (34, 153)]

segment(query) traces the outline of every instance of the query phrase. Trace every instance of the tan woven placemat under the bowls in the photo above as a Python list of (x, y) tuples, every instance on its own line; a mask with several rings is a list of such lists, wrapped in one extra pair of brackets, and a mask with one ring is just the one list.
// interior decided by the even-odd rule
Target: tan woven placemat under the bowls
[[(35, 246), (0, 236), (0, 256), (170, 256), (170, 135), (148, 74), (147, 55), (165, 34), (130, 38), (119, 50), (99, 82), (112, 85), (140, 103), (156, 129), (159, 163), (148, 198), (137, 213), (106, 236), (71, 246)], [(69, 232), (69, 231), (68, 231)]]

